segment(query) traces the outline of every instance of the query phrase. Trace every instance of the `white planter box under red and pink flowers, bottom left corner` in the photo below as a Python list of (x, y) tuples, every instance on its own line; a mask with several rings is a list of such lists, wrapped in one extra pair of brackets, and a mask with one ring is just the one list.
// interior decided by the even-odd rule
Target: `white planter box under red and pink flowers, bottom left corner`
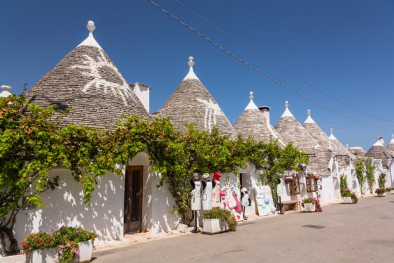
[[(78, 243), (80, 246), (80, 255), (72, 259), (71, 263), (90, 262), (91, 252), (93, 251), (93, 243), (91, 240)], [(26, 263), (55, 263), (57, 262), (58, 252), (56, 248), (48, 248), (45, 250), (33, 250), (32, 253), (26, 255)]]

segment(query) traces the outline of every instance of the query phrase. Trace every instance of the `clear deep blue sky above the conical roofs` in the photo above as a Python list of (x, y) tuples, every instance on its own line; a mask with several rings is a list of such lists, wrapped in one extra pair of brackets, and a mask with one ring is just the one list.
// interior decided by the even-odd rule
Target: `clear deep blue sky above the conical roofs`
[(182, 81), (189, 70), (188, 57), (193, 56), (194, 72), (231, 124), (253, 91), (257, 105), (272, 107), (272, 124), (288, 101), (299, 122), (305, 121), (307, 109), (312, 110), (319, 127), (326, 134), (333, 128), (344, 145), (368, 150), (376, 136), (383, 136), (386, 144), (390, 141), (394, 134), (394, 1), (177, 0), (329, 96), (267, 63), (177, 2), (154, 1), (325, 108), (251, 70), (146, 0), (1, 1), (0, 84), (12, 86), (15, 94), (25, 82), (30, 89), (87, 37), (87, 21), (93, 20), (95, 39), (127, 82), (151, 86), (151, 112)]

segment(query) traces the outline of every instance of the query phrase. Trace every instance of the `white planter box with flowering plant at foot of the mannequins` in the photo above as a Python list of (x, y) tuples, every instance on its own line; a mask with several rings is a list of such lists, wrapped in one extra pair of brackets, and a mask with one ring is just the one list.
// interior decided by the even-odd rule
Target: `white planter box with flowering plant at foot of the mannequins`
[(212, 208), (203, 214), (204, 233), (215, 234), (225, 231), (236, 231), (236, 218), (230, 210)]

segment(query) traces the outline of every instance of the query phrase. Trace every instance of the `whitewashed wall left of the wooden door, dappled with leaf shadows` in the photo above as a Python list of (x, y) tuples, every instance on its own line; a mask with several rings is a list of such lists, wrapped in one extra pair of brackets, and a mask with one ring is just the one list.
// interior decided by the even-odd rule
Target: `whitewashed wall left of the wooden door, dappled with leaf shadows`
[(61, 226), (83, 226), (97, 233), (97, 240), (123, 237), (124, 177), (108, 174), (97, 179), (91, 207), (82, 200), (82, 184), (72, 179), (68, 169), (51, 172), (59, 175), (60, 186), (42, 195), (45, 209), (29, 210), (18, 216), (15, 237), (18, 243), (30, 233), (56, 230)]

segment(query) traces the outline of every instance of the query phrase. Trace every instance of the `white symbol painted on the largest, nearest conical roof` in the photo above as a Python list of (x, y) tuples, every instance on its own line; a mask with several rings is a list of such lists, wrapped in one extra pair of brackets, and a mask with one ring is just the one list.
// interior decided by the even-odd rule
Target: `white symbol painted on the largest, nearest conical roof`
[[(104, 56), (103, 51), (99, 50), (99, 52), (100, 56), (97, 57), (97, 61), (85, 54), (83, 56), (84, 58), (86, 58), (86, 60), (82, 60), (82, 63), (84, 65), (73, 65), (70, 67), (73, 69), (78, 68), (82, 70), (87, 70), (83, 71), (82, 75), (87, 77), (93, 77), (90, 82), (84, 85), (82, 92), (86, 93), (88, 89), (96, 88), (97, 91), (102, 91), (108, 94), (108, 89), (110, 89), (113, 94), (119, 94), (122, 97), (122, 101), (123, 103), (125, 103), (125, 105), (127, 105), (126, 98), (132, 98), (135, 102), (134, 96), (132, 95), (132, 90), (129, 88), (129, 85), (127, 85), (125, 79), (122, 77), (115, 65), (113, 65), (113, 63), (110, 63), (110, 61), (107, 60), (106, 56)], [(111, 73), (111, 75), (113, 75), (115, 79), (117, 79), (119, 82), (122, 82), (122, 84), (111, 82), (110, 80), (105, 79), (105, 77), (101, 76), (100, 70), (102, 70), (103, 68), (106, 68), (107, 71), (113, 70), (113, 73)]]

